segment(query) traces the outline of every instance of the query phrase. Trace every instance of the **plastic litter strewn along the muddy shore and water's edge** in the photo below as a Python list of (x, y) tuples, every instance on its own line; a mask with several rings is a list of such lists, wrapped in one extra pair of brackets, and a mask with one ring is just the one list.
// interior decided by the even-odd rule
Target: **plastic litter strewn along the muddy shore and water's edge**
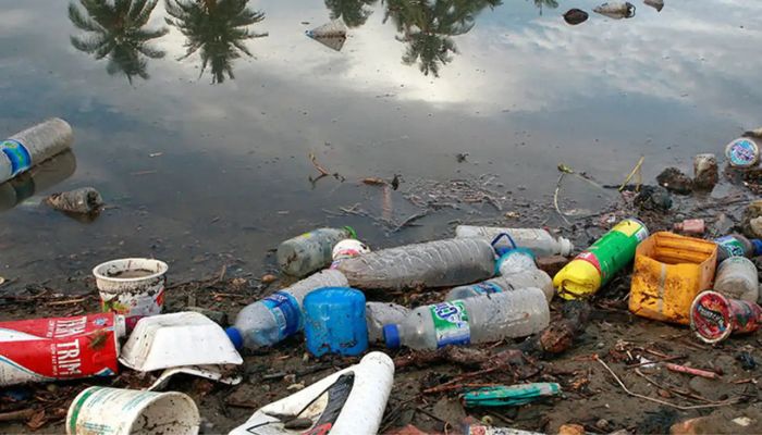
[[(71, 144), (71, 137), (65, 122), (52, 120), (2, 142), (2, 179), (67, 148), (61, 144)], [(754, 137), (729, 144), (726, 157), (727, 171), (753, 170), (759, 161)], [(623, 185), (623, 195), (650, 191), (653, 198), (656, 187), (668, 191), (667, 198), (712, 190), (717, 159), (700, 154), (695, 162), (692, 179), (667, 170), (657, 177), (661, 187), (628, 191)], [(90, 188), (75, 190), (72, 200), (54, 195), (48, 202), (85, 214), (102, 207)], [(70, 435), (217, 433), (201, 418), (193, 391), (181, 391), (184, 384), (175, 377), (205, 380), (201, 399), (213, 388), (228, 396), (225, 388), (282, 378), (288, 384), (285, 393), (273, 398), (260, 391), (263, 403), (254, 397), (242, 401), (235, 394), (226, 398), (229, 406), (256, 403), (245, 405), (254, 413), (235, 422), (231, 434), (648, 432), (613, 419), (585, 421), (581, 410), (553, 425), (539, 415), (518, 422), (506, 411), (542, 406), (552, 413), (570, 397), (581, 406), (604, 387), (671, 412), (666, 426), (654, 426), (663, 432), (668, 426), (673, 434), (717, 431), (717, 421), (729, 431), (722, 433), (759, 432), (759, 407), (755, 417), (679, 412), (759, 403), (753, 352), (760, 341), (738, 346), (743, 350), (735, 341), (762, 325), (753, 261), (762, 256), (762, 201), (748, 206), (738, 225), (743, 234), (728, 228), (729, 234), (714, 238), (703, 238), (702, 219), (650, 231), (644, 220), (653, 208), (642, 210), (643, 216), (605, 219), (609, 232), (572, 259), (573, 240), (548, 228), (458, 225), (453, 238), (380, 250), (361, 243), (352, 227), (318, 228), (278, 248), (281, 272), (297, 281), (248, 300), (226, 328), (224, 316), (196, 307), (165, 312), (167, 263), (107, 261), (93, 269), (100, 312), (0, 322), (0, 421), (22, 421), (36, 430), (64, 419)], [(685, 361), (688, 356), (675, 355), (678, 348), (629, 335), (617, 336), (607, 351), (599, 343), (594, 352), (576, 355), (585, 370), (555, 365), (587, 346), (589, 330), (616, 328), (614, 320), (637, 323), (629, 313), (653, 321), (647, 326), (659, 328), (667, 344), (689, 327), (693, 338), (684, 346), (734, 351), (750, 376), (733, 383), (750, 389), (709, 396), (728, 382), (728, 373), (711, 360), (696, 366)], [(593, 326), (593, 319), (599, 324)], [(304, 352), (302, 363), (269, 373), (274, 366), (267, 365), (281, 358), (267, 356), (284, 348)], [(331, 363), (312, 369), (306, 364), (310, 360)], [(442, 372), (443, 363), (456, 370)], [(423, 373), (416, 380), (418, 389), (392, 400), (397, 381), (415, 368)], [(296, 380), (324, 371), (309, 384)], [(600, 376), (597, 389), (593, 372)], [(674, 385), (665, 377), (671, 373), (691, 376), (689, 388)], [(635, 380), (655, 386), (655, 393), (634, 386)], [(28, 388), (37, 384), (48, 387)], [(51, 405), (62, 390), (70, 396), (59, 396), (71, 398), (65, 415)], [(27, 407), (30, 391), (41, 406)], [(439, 398), (434, 410), (443, 403), (453, 411), (441, 417), (427, 410), (427, 397)], [(219, 409), (228, 418), (226, 408)], [(411, 415), (404, 418), (408, 411), (433, 423), (419, 428)], [(639, 411), (631, 413), (636, 418)]]

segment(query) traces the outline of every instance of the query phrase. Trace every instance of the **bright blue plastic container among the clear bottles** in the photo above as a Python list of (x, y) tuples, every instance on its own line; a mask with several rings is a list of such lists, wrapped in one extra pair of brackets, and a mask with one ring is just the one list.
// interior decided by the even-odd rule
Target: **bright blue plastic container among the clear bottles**
[(357, 356), (368, 349), (365, 295), (349, 287), (324, 287), (304, 299), (307, 350)]

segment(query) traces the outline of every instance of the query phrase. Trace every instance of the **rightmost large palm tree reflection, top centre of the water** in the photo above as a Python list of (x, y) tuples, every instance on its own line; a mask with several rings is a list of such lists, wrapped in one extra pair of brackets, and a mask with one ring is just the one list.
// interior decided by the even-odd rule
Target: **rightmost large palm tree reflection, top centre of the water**
[(402, 34), (397, 40), (407, 45), (403, 62), (418, 63), (423, 75), (439, 77), (440, 69), (458, 52), (452, 37), (474, 28), (484, 8), (501, 4), (502, 0), (388, 0), (384, 22), (392, 18)]

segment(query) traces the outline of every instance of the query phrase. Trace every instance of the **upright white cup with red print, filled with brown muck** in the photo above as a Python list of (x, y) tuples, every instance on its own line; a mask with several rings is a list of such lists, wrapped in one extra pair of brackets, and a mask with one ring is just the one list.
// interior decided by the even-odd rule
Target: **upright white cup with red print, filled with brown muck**
[(125, 316), (127, 328), (142, 318), (161, 313), (169, 266), (152, 259), (119, 259), (93, 269), (103, 311)]

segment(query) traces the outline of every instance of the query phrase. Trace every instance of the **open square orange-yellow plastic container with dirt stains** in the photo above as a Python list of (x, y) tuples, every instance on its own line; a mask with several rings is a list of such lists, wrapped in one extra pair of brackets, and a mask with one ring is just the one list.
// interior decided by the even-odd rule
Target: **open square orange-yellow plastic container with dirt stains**
[(629, 310), (664, 322), (690, 324), (690, 304), (712, 288), (717, 263), (713, 241), (656, 233), (635, 251)]

